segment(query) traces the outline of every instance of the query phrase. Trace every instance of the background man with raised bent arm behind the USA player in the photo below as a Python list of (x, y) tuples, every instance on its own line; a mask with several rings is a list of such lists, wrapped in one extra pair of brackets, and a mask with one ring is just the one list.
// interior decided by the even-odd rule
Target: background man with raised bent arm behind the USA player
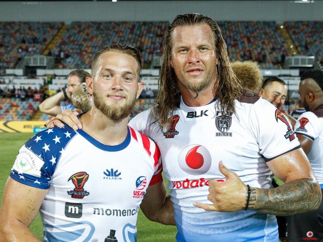
[(47, 98), (39, 105), (39, 110), (53, 116), (61, 113), (65, 109), (74, 110), (74, 106), (71, 103), (65, 105), (61, 105), (60, 103), (64, 100), (70, 101), (71, 95), (75, 92), (77, 87), (85, 82), (86, 77), (90, 76), (91, 75), (85, 70), (77, 69), (72, 71), (68, 76), (68, 87), (63, 89), (62, 92)]

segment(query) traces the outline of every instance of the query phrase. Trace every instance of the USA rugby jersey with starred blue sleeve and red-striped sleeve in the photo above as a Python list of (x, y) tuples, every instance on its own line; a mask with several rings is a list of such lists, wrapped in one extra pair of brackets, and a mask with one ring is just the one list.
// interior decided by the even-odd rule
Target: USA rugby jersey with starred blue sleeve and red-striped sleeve
[(149, 185), (162, 180), (160, 151), (128, 127), (123, 143), (104, 145), (83, 130), (39, 132), (19, 150), (10, 177), (48, 189), (40, 208), (44, 240), (135, 242), (139, 205)]

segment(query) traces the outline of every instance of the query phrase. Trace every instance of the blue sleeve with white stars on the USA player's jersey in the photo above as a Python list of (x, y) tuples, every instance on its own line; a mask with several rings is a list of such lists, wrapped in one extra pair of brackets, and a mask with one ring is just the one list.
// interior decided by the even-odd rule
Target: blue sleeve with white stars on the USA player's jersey
[(20, 148), (10, 177), (25, 185), (48, 189), (64, 148), (75, 134), (71, 128), (37, 133)]

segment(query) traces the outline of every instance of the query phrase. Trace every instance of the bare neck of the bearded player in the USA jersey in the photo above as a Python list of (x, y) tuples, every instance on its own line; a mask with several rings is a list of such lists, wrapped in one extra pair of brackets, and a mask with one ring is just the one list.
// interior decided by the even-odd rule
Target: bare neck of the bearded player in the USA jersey
[(83, 131), (105, 145), (119, 145), (127, 137), (129, 117), (114, 121), (94, 106), (80, 118)]

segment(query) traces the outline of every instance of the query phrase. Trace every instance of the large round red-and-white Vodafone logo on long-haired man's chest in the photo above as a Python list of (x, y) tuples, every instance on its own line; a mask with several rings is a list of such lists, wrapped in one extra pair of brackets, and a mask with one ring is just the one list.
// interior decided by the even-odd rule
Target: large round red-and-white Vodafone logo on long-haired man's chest
[(210, 152), (199, 144), (188, 145), (179, 153), (178, 165), (190, 175), (205, 174), (211, 167)]

